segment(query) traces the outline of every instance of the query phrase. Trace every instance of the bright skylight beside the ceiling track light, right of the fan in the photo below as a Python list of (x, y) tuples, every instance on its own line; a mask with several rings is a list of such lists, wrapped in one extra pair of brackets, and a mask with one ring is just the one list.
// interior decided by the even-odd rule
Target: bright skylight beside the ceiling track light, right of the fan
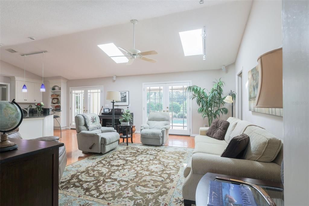
[(202, 29), (179, 32), (184, 56), (203, 54)]

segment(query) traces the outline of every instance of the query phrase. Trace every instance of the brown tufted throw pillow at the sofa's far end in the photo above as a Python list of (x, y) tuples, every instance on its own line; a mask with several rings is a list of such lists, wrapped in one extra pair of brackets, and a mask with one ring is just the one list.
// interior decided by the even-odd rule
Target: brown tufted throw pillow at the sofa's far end
[(230, 122), (215, 119), (208, 128), (206, 135), (214, 139), (223, 140)]

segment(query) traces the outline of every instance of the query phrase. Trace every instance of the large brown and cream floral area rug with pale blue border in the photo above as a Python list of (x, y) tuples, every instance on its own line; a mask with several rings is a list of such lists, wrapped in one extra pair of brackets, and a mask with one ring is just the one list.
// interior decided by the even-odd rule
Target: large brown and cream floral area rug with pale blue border
[(193, 149), (119, 144), (66, 167), (59, 205), (183, 205), (184, 164)]

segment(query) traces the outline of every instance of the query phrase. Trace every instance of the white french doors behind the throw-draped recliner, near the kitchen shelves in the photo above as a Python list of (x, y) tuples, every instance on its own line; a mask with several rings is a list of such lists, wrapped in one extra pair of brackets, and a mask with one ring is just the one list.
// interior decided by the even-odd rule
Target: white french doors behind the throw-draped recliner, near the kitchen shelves
[(103, 105), (103, 87), (70, 88), (70, 128), (77, 114), (99, 114)]

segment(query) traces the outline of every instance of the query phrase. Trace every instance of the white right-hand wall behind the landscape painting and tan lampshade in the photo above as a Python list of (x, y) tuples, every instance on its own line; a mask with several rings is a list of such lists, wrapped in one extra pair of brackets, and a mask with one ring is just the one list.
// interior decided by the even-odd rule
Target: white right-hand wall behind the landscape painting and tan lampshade
[[(252, 9), (235, 61), (236, 74), (243, 70), (243, 119), (283, 138), (283, 118), (249, 111), (248, 71), (257, 58), (282, 45), (282, 1), (253, 1)], [(283, 114), (284, 115), (284, 114)]]

